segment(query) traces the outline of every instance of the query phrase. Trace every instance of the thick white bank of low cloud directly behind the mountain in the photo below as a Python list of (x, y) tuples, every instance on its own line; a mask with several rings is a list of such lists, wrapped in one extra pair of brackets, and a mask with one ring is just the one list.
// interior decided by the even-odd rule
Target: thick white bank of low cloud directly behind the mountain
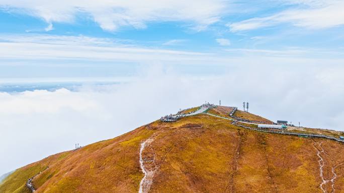
[[(178, 69), (178, 68), (176, 68)], [(0, 173), (53, 153), (115, 137), (204, 101), (240, 107), (271, 120), (344, 130), (342, 65), (231, 65), (225, 74), (177, 75), (152, 66), (126, 84), (78, 92), (0, 93)], [(171, 100), (173, 99), (173, 100)], [(339, 106), (338, 106), (339, 105)], [(34, 150), (34, 151), (29, 151)], [(34, 152), (34, 153), (33, 153)]]

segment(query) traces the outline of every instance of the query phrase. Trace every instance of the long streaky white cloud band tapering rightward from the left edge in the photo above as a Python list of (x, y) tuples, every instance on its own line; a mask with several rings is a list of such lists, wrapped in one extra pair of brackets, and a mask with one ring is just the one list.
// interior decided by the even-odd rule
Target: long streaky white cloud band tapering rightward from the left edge
[(202, 60), (211, 53), (149, 48), (130, 40), (87, 36), (0, 36), (0, 60), (98, 60), (146, 62), (154, 60)]

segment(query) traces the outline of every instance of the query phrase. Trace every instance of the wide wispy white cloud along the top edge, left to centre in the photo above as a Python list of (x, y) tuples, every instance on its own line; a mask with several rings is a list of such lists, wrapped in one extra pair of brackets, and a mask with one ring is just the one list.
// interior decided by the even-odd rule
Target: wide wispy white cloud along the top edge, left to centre
[(217, 22), (225, 10), (223, 0), (2, 0), (0, 6), (11, 12), (20, 12), (44, 19), (47, 23), (73, 22), (76, 15), (90, 15), (101, 28), (108, 31), (121, 26), (145, 28), (156, 21), (182, 21), (202, 29)]

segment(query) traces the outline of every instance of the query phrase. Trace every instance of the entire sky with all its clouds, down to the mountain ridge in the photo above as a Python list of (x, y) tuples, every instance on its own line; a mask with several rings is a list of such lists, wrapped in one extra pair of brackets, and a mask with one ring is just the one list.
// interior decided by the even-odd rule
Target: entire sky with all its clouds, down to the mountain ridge
[(344, 131), (342, 10), (342, 0), (1, 0), (0, 174), (204, 101)]

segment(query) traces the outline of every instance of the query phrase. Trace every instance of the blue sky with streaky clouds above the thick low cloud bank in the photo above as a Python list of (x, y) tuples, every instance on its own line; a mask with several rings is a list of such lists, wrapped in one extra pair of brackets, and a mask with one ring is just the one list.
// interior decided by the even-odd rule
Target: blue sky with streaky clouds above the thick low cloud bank
[(193, 73), (189, 65), (245, 65), (247, 57), (340, 63), (343, 7), (336, 0), (2, 1), (0, 78), (128, 76), (152, 63)]

